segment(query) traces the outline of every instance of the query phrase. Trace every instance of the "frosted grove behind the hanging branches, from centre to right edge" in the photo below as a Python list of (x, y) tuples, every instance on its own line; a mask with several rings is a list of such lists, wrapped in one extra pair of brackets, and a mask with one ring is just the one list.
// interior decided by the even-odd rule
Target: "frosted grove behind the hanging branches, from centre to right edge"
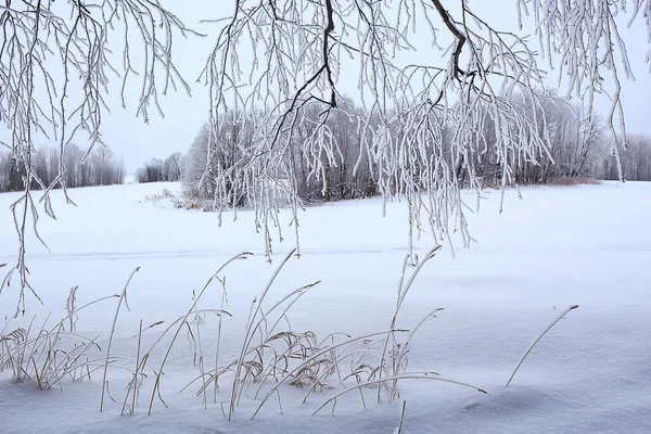
[[(522, 113), (532, 114), (532, 108), (523, 102)], [(337, 201), (371, 196), (378, 193), (376, 174), (379, 168), (372, 155), (367, 155), (365, 140), (372, 135), (373, 120), (362, 128), (363, 110), (354, 101), (344, 99), (339, 103), (340, 110), (331, 111), (326, 128), (319, 129), (322, 123), (321, 107), (312, 105), (305, 110), (305, 122), (302, 122), (292, 137), (294, 145), (286, 146), (283, 157), (286, 166), (292, 168), (286, 183), (293, 183), (297, 195), (304, 202)], [(612, 153), (612, 139), (603, 123), (597, 117), (585, 122), (580, 107), (553, 94), (542, 99), (536, 110), (544, 111), (546, 123), (539, 123), (540, 132), (549, 138), (548, 152), (535, 158), (512, 157), (509, 165), (508, 183), (545, 184), (556, 182), (580, 182), (582, 179), (618, 179), (615, 157)], [(445, 155), (450, 176), (464, 182), (472, 170), (484, 187), (500, 186), (505, 174), (505, 158), (500, 155), (496, 143), (494, 111), (486, 105), (483, 111), (482, 130), (475, 131), (476, 152), (467, 156), (471, 159), (464, 165), (455, 158), (451, 140), (455, 130), (451, 125), (442, 125), (442, 152)], [(533, 116), (532, 116), (533, 117)], [(399, 116), (396, 116), (399, 118)], [(310, 120), (311, 119), (311, 120)], [(235, 168), (247, 164), (254, 156), (256, 128), (260, 125), (261, 114), (242, 115), (231, 112), (213, 131), (212, 138), (207, 125), (202, 127), (190, 150), (177, 161), (181, 164), (181, 179), (186, 184), (186, 193), (191, 199), (212, 200), (216, 189), (219, 195), (228, 197), (228, 205), (242, 206), (246, 203), (247, 193), (235, 188)], [(544, 130), (542, 130), (544, 129)], [(336, 143), (331, 149), (310, 145), (314, 135), (328, 136), (328, 142)], [(512, 131), (518, 133), (518, 126)], [(516, 137), (516, 135), (515, 135)], [(322, 138), (321, 138), (322, 139)], [(390, 139), (393, 146), (398, 146), (401, 137), (398, 132)], [(627, 180), (651, 181), (651, 137), (630, 136), (628, 148), (622, 150), (624, 177)], [(321, 141), (323, 143), (323, 141)], [(535, 161), (535, 163), (534, 163)], [(315, 162), (321, 165), (319, 176), (314, 176)], [(161, 167), (157, 164), (155, 167)], [(413, 168), (413, 176), (419, 174)], [(161, 179), (163, 180), (163, 179)], [(201, 181), (201, 182), (200, 182)], [(242, 183), (246, 186), (251, 183)], [(235, 194), (238, 196), (235, 196)]]

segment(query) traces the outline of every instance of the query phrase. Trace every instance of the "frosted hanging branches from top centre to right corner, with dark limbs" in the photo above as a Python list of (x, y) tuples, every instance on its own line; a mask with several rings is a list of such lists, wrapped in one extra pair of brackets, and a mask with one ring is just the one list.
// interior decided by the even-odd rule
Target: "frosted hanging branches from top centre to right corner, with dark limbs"
[[(206, 142), (218, 142), (233, 117), (252, 125), (264, 116), (240, 146), (239, 164), (219, 174), (206, 168), (199, 184), (221, 186), (215, 189), (220, 209), (241, 201), (231, 190), (247, 192), (269, 252), (270, 222), (280, 225), (278, 195), (299, 207), (296, 191), (305, 176), (296, 153), (307, 156), (307, 177), (328, 191), (329, 170), (343, 152), (329, 119), (342, 112), (359, 130), (356, 169), (366, 164), (384, 197), (407, 200), (410, 245), (423, 231), (436, 243), (452, 232), (470, 242), (461, 188), (480, 186), (475, 167), (485, 156), (497, 155), (501, 186), (514, 182), (516, 165), (553, 159), (539, 56), (531, 41), (493, 27), (468, 2), (456, 9), (438, 0), (231, 4), (231, 17), (215, 24), (217, 43), (202, 74), (212, 99)], [(633, 4), (631, 20), (650, 3)], [(591, 106), (595, 94), (607, 91), (605, 71), (615, 84), (607, 120), (613, 137), (625, 137), (617, 65), (631, 74), (615, 17), (626, 2), (519, 0), (515, 7), (521, 22), (533, 15), (548, 66), (560, 65), (570, 92), (586, 103), (582, 137), (592, 137)], [(244, 56), (245, 47), (253, 48), (252, 59)], [(363, 113), (341, 103), (350, 77), (357, 77)], [(447, 128), (449, 148), (443, 140)], [(207, 152), (210, 162), (210, 153), (220, 151)], [(613, 152), (621, 174), (616, 145)]]

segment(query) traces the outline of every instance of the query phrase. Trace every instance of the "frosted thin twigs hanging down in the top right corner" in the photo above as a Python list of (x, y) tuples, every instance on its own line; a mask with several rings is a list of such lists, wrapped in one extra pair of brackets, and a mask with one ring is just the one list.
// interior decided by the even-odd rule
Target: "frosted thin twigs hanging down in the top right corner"
[[(620, 179), (623, 179), (620, 149), (626, 148), (626, 124), (622, 79), (635, 77), (620, 27), (630, 26), (642, 16), (649, 35), (647, 42), (650, 42), (651, 1), (518, 0), (518, 13), (521, 28), (523, 16), (533, 15), (541, 54), (547, 58), (549, 68), (558, 67), (559, 79), (567, 85), (567, 94), (575, 94), (585, 103), (586, 124), (589, 125), (595, 115), (596, 94), (609, 95), (611, 107), (607, 123), (615, 139), (612, 151)], [(622, 15), (627, 13), (626, 20)]]

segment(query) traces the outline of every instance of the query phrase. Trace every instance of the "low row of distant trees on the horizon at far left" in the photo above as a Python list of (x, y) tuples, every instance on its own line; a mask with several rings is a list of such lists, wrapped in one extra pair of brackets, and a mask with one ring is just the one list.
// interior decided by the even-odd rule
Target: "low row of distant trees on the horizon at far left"
[[(120, 157), (107, 146), (97, 146), (81, 164), (86, 156), (85, 150), (68, 144), (63, 153), (63, 178), (67, 188), (119, 184), (125, 179), (125, 165)], [(39, 148), (31, 155), (35, 175), (42, 184), (49, 187), (61, 170), (61, 150), (59, 148)], [(25, 188), (25, 167), (10, 153), (0, 152), (0, 192), (21, 191)], [(55, 188), (59, 188), (58, 184)], [(40, 189), (37, 181), (31, 188)]]

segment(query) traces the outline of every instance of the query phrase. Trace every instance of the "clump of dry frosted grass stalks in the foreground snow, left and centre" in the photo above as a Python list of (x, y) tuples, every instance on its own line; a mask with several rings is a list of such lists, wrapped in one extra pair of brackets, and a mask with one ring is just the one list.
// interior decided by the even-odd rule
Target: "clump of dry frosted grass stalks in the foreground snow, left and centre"
[[(281, 403), (281, 396), (291, 386), (303, 391), (303, 404), (322, 391), (333, 391), (333, 394), (317, 397), (322, 404), (316, 408), (316, 412), (326, 406), (332, 406), (334, 412), (337, 400), (350, 393), (359, 396), (362, 407), (367, 406), (367, 401), (392, 403), (400, 396), (398, 384), (413, 380), (451, 383), (486, 393), (476, 386), (443, 378), (434, 371), (409, 369), (407, 354), (411, 337), (442, 309), (425, 316), (411, 330), (399, 328), (397, 316), (417, 275), (434, 253), (432, 251), (425, 256), (410, 276), (405, 276), (408, 258), (405, 259), (394, 317), (386, 329), (362, 335), (332, 331), (324, 336), (317, 336), (310, 330), (296, 331), (291, 326), (290, 317), (291, 308), (319, 281), (290, 291), (276, 301), (269, 299), (271, 286), (294, 255), (293, 251), (290, 252), (261, 293), (253, 299), (238, 356), (232, 359), (220, 355), (221, 341), (232, 345), (233, 340), (232, 333), (222, 333), (222, 320), (231, 317), (226, 310), (228, 295), (222, 270), (235, 260), (246, 259), (250, 253), (239, 254), (226, 261), (201, 291), (193, 293), (186, 314), (170, 321), (167, 327), (166, 321), (157, 321), (143, 328), (140, 320), (138, 333), (131, 337), (131, 341), (137, 341), (136, 354), (131, 357), (124, 352), (116, 352), (114, 342), (122, 327), (124, 311), (129, 309), (129, 285), (140, 270), (137, 268), (120, 294), (82, 306), (77, 306), (78, 289), (73, 288), (66, 302), (67, 316), (54, 326), (47, 326), (48, 317), (42, 324), (35, 324), (33, 320), (27, 329), (18, 327), (9, 332), (7, 330), (11, 321), (8, 321), (0, 333), (0, 371), (9, 370), (14, 382), (33, 382), (40, 390), (59, 387), (63, 391), (68, 381), (98, 378), (101, 379), (100, 411), (104, 411), (108, 400), (113, 400), (122, 403), (123, 414), (133, 414), (144, 395), (148, 396), (148, 413), (151, 414), (155, 403), (167, 406), (163, 390), (167, 388), (165, 384), (170, 379), (166, 372), (168, 365), (183, 353), (179, 353), (178, 347), (184, 336), (190, 343), (192, 356), (188, 359), (192, 360), (192, 368), (199, 375), (181, 392), (194, 388), (204, 407), (210, 400), (219, 403), (229, 420), (241, 403), (246, 403), (248, 407), (254, 404), (256, 409), (251, 414), (254, 419), (264, 406), (277, 399)], [(214, 284), (219, 286), (221, 293), (220, 306), (200, 307), (205, 303), (204, 295)], [(116, 298), (106, 344), (100, 345), (99, 337), (89, 339), (77, 332), (77, 320), (88, 307)], [(207, 315), (218, 318), (216, 334), (204, 326)], [(162, 327), (163, 331), (156, 333), (155, 330)], [(143, 339), (144, 333), (149, 334), (146, 340)], [(153, 337), (153, 343), (145, 344), (152, 342), (152, 333), (156, 337)], [(206, 336), (216, 337), (215, 345), (207, 344)], [(208, 347), (213, 348), (213, 354)], [(118, 374), (120, 372), (123, 374)], [(122, 384), (125, 381), (126, 391)]]

